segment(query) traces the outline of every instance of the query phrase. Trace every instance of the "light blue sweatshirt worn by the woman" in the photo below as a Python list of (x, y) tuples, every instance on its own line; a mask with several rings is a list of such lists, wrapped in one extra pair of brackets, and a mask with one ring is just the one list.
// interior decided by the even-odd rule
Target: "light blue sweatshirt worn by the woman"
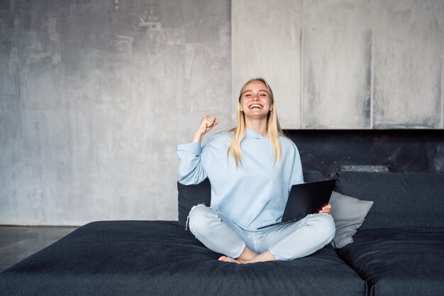
[(279, 136), (282, 162), (274, 164), (268, 136), (247, 128), (240, 143), (242, 162), (236, 168), (227, 150), (232, 135), (222, 131), (201, 143), (179, 144), (178, 181), (199, 184), (206, 177), (211, 183), (211, 207), (243, 229), (281, 221), (289, 191), (304, 182), (299, 151), (293, 141)]

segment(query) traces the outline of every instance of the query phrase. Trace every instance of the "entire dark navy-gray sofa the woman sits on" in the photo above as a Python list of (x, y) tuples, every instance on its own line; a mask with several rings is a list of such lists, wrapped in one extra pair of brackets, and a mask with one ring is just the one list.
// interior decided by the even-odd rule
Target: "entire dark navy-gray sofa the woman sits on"
[(444, 295), (444, 174), (335, 177), (336, 191), (374, 201), (344, 248), (294, 261), (217, 261), (184, 230), (189, 208), (209, 204), (206, 180), (178, 184), (179, 225), (87, 224), (0, 273), (0, 295)]

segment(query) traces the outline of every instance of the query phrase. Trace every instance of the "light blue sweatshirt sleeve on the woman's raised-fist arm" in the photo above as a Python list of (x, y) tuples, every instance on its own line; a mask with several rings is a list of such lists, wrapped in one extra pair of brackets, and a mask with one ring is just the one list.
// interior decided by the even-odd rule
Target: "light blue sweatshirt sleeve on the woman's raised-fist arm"
[(201, 163), (201, 143), (179, 144), (179, 171), (177, 181), (183, 185), (199, 184), (207, 177)]

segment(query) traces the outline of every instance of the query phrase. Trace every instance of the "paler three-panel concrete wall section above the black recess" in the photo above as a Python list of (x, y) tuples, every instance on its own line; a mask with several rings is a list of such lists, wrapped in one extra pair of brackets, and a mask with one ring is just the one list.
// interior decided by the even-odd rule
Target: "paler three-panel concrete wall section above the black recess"
[(443, 6), (233, 1), (233, 94), (264, 75), (285, 128), (444, 128)]

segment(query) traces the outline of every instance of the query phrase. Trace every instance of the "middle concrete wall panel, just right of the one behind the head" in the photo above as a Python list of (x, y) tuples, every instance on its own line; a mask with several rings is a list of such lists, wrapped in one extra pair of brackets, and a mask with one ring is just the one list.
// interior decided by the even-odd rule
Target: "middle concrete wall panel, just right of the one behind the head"
[(372, 27), (365, 0), (304, 1), (303, 128), (370, 128)]

